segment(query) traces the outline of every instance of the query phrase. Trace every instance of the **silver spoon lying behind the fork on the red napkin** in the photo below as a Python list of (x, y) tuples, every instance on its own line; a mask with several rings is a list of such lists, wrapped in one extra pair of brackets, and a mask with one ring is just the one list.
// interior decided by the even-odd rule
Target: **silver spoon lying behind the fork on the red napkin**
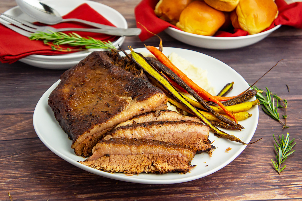
[(24, 13), (28, 14), (32, 18), (36, 19), (37, 21), (44, 23), (44, 24), (58, 24), (61, 22), (80, 22), (83, 24), (88, 24), (93, 27), (101, 28), (101, 29), (119, 29), (127, 32), (127, 36), (129, 35), (139, 35), (141, 33), (140, 28), (118, 28), (112, 27), (104, 24), (98, 24), (95, 22), (90, 22), (86, 20), (70, 18), (70, 19), (63, 19), (62, 16), (56, 11), (55, 9), (51, 8), (47, 4), (40, 2), (38, 0), (16, 0), (17, 5)]

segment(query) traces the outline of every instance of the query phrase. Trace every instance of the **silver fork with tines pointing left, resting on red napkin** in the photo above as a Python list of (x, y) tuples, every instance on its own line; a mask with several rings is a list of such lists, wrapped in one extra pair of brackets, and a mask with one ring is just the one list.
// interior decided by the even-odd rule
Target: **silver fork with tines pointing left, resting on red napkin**
[[(5, 17), (3, 17), (5, 16)], [(16, 29), (13, 29), (14, 26), (10, 25), (10, 26), (7, 26), (9, 25), (8, 23), (10, 24), (13, 24), (23, 30), (26, 30), (27, 32), (30, 32), (30, 33), (24, 33), (24, 32), (21, 32), (22, 35), (24, 36), (27, 36), (29, 37), (29, 34), (31, 33), (37, 33), (38, 31), (42, 31), (42, 32), (47, 32), (47, 33), (50, 33), (50, 31), (48, 30), (51, 30), (53, 32), (61, 32), (61, 31), (85, 31), (85, 32), (93, 32), (93, 33), (101, 33), (101, 34), (108, 34), (108, 35), (115, 35), (115, 36), (136, 36), (136, 35), (139, 35), (140, 34), (140, 30), (134, 30), (129, 28), (129, 29), (124, 29), (124, 28), (117, 28), (117, 27), (112, 27), (112, 28), (59, 28), (59, 29), (56, 29), (56, 28), (53, 28), (53, 27), (50, 27), (50, 26), (37, 26), (35, 24), (32, 24), (30, 22), (27, 22), (27, 21), (24, 21), (24, 20), (21, 20), (21, 19), (17, 19), (17, 18), (14, 18), (10, 15), (7, 15), (7, 14), (3, 14), (0, 15), (0, 18), (6, 22), (6, 23), (2, 23), (3, 21), (1, 21), (1, 23), (3, 25), (5, 25), (6, 27), (16, 31)], [(18, 32), (18, 31), (16, 31)], [(18, 32), (19, 34), (21, 34), (20, 32)]]

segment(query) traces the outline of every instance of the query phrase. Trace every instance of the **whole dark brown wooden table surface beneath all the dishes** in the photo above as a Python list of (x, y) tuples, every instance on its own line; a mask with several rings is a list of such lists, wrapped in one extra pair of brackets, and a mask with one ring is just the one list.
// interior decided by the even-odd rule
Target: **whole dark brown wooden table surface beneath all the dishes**
[[(139, 0), (99, 0), (119, 11), (135, 27), (133, 8)], [(16, 5), (1, 0), (0, 12)], [(282, 26), (254, 45), (211, 50), (178, 42), (159, 34), (164, 46), (192, 49), (226, 63), (248, 83), (263, 77), (257, 87), (268, 87), (288, 101), (288, 126), (268, 117), (259, 107), (259, 123), (252, 141), (230, 164), (206, 177), (177, 184), (147, 185), (108, 179), (79, 169), (51, 152), (37, 137), (32, 119), (43, 93), (64, 70), (36, 68), (22, 62), (0, 64), (0, 200), (302, 200), (302, 30)], [(1, 40), (1, 39), (0, 39)], [(144, 43), (158, 45), (153, 37)], [(138, 37), (126, 37), (122, 48), (143, 47)], [(288, 85), (289, 91), (286, 87)], [(273, 134), (289, 132), (297, 142), (279, 175)]]

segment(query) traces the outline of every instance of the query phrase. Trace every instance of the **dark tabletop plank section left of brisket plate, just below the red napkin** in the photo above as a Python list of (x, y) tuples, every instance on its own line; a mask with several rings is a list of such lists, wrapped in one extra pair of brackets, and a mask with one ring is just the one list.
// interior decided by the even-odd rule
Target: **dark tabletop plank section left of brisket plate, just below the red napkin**
[(40, 69), (21, 62), (1, 64), (0, 114), (33, 112), (40, 97), (64, 71)]

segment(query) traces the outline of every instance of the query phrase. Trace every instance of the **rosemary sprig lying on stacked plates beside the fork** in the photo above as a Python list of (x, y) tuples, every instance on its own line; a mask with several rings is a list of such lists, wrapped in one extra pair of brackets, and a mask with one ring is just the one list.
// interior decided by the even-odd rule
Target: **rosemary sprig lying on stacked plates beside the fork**
[[(50, 45), (53, 50), (57, 51), (79, 51), (82, 50), (82, 47), (79, 49), (70, 49), (62, 48), (60, 45), (68, 44), (70, 46), (84, 46), (84, 49), (115, 49), (114, 45), (108, 41), (104, 42), (101, 40), (96, 40), (92, 37), (81, 37), (76, 33), (65, 34), (62, 32), (53, 32), (48, 30), (51, 33), (46, 33), (39, 31), (37, 33), (31, 34), (29, 37), (30, 40), (43, 40), (44, 44)], [(52, 43), (50, 43), (52, 41)]]

